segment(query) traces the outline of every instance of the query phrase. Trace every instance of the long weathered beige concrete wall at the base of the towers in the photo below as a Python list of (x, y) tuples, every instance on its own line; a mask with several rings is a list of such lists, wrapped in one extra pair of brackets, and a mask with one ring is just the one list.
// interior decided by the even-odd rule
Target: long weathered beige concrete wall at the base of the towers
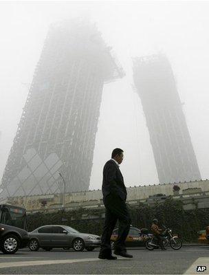
[[(179, 194), (182, 194), (183, 190), (188, 188), (201, 188), (202, 192), (209, 190), (209, 180), (204, 181), (192, 181), (175, 184), (179, 186)], [(135, 199), (146, 199), (149, 196), (153, 196), (159, 193), (164, 195), (173, 195), (173, 186), (174, 184), (158, 184), (150, 186), (136, 186), (127, 188), (127, 201), (133, 201)], [(194, 190), (191, 190), (194, 192)], [(70, 206), (73, 203), (76, 204), (83, 202), (85, 206), (87, 205), (96, 205), (96, 201), (100, 203), (102, 200), (102, 191), (101, 190), (92, 190), (86, 192), (73, 192), (65, 194), (65, 206)], [(46, 202), (45, 206), (43, 201)], [(5, 202), (11, 203), (16, 206), (23, 206), (27, 210), (33, 209), (43, 209), (47, 207), (52, 207), (63, 204), (63, 194), (52, 194), (52, 195), (37, 195), (29, 197), (10, 197)], [(2, 202), (1, 202), (2, 203)]]

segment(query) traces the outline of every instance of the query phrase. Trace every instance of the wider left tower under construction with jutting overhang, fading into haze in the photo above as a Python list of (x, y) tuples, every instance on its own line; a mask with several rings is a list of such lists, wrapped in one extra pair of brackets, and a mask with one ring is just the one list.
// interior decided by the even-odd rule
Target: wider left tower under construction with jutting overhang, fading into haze
[[(51, 26), (1, 180), (0, 197), (88, 190), (104, 83), (122, 77), (96, 25)], [(61, 178), (63, 177), (63, 179)]]

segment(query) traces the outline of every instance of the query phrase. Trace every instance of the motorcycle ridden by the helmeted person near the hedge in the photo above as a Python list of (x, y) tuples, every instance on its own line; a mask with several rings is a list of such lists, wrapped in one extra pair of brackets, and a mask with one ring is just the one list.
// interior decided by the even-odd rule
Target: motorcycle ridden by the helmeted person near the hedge
[[(163, 233), (162, 233), (162, 238), (163, 238), (163, 243), (164, 247), (170, 245), (170, 248), (173, 248), (173, 250), (179, 250), (182, 246), (182, 241), (178, 236), (173, 236), (172, 230), (167, 228)], [(159, 248), (159, 243), (158, 239), (155, 236), (151, 236), (147, 241), (146, 241), (146, 249), (148, 250), (153, 250)]]

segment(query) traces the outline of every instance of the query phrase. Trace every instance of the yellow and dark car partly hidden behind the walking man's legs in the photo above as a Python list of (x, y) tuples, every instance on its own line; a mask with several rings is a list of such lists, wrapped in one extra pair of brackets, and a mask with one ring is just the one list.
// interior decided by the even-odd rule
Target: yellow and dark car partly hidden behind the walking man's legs
[[(148, 232), (148, 229), (142, 228), (138, 229), (131, 226), (129, 230), (129, 234), (126, 237), (125, 245), (127, 247), (135, 247), (135, 246), (145, 246), (146, 240), (148, 237), (153, 236)], [(113, 230), (113, 234), (111, 235), (111, 248), (114, 248), (115, 240), (118, 237), (118, 228)]]

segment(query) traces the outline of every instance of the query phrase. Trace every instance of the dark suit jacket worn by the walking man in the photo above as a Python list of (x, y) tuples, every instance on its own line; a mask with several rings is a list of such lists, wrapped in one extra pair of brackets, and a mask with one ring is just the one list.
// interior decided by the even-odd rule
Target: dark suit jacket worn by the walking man
[(126, 201), (126, 187), (124, 186), (124, 179), (122, 173), (115, 162), (110, 159), (103, 168), (102, 194), (107, 197), (109, 194), (118, 195), (121, 199)]

